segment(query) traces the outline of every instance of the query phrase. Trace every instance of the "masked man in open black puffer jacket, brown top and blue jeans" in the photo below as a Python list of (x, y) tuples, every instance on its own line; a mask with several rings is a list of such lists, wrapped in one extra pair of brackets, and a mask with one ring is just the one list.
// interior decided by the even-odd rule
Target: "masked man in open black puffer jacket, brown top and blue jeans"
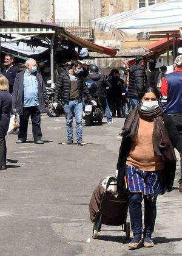
[(84, 78), (81, 75), (81, 63), (78, 61), (72, 61), (70, 69), (62, 69), (62, 73), (59, 74), (58, 83), (55, 89), (55, 96), (53, 107), (58, 107), (59, 98), (64, 102), (64, 112), (66, 114), (66, 126), (67, 126), (67, 141), (62, 142), (63, 145), (73, 144), (73, 116), (76, 118), (76, 140), (78, 145), (85, 145), (83, 141), (83, 125), (82, 125), (82, 113), (83, 113), (83, 93), (87, 98), (96, 104), (90, 96), (89, 90), (84, 83)]

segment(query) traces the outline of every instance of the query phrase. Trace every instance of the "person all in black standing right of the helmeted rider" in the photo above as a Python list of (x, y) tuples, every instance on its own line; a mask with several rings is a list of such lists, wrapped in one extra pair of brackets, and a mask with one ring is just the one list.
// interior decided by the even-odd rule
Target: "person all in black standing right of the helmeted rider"
[(112, 71), (110, 71), (108, 82), (111, 87), (107, 92), (107, 99), (112, 112), (112, 117), (115, 118), (117, 112), (117, 117), (121, 118), (121, 96), (124, 81), (120, 79), (120, 72), (118, 69), (113, 68)]

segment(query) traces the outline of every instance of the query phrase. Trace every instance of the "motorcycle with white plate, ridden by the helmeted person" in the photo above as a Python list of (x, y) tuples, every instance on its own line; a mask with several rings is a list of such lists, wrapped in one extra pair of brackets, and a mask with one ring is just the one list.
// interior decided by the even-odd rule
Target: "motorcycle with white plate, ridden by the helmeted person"
[(97, 96), (98, 85), (95, 82), (87, 81), (87, 88), (96, 102), (96, 106), (92, 105), (90, 101), (85, 97), (84, 98), (84, 111), (83, 111), (83, 119), (86, 121), (86, 126), (92, 126), (94, 123), (102, 123), (104, 118), (103, 108), (101, 103), (99, 102)]

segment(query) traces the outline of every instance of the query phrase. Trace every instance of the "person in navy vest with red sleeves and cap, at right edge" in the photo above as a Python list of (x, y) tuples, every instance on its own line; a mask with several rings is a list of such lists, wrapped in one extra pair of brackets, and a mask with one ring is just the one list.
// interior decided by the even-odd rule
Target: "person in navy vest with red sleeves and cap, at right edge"
[[(175, 71), (166, 74), (162, 79), (161, 93), (163, 99), (161, 104), (164, 112), (170, 115), (182, 137), (182, 55), (175, 59), (174, 67)], [(182, 157), (179, 191), (182, 192)]]

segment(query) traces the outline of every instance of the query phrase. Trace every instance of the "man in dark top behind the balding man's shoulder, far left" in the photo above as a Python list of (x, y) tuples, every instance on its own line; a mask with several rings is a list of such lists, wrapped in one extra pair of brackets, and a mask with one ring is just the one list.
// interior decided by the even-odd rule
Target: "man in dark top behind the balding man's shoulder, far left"
[(2, 69), (2, 74), (7, 78), (9, 84), (9, 92), (12, 94), (15, 77), (16, 74), (19, 73), (19, 68), (15, 65), (15, 57), (12, 54), (5, 55), (4, 66), (5, 68)]

